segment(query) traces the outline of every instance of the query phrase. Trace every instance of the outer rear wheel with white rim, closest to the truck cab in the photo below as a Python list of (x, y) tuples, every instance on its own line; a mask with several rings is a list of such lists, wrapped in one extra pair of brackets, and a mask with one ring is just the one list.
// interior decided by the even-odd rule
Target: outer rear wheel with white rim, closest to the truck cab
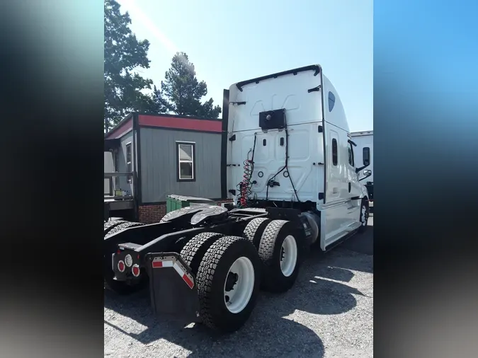
[(297, 278), (302, 250), (295, 231), (292, 222), (273, 220), (262, 234), (258, 253), (264, 266), (263, 288), (268, 291), (287, 291)]

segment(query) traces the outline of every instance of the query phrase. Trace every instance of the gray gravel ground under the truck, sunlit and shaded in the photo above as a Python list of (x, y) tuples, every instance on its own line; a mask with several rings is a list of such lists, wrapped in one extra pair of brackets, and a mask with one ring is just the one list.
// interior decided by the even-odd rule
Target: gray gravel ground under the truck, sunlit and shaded
[[(372, 214), (373, 215), (373, 214)], [(147, 291), (105, 292), (105, 357), (373, 357), (373, 216), (369, 230), (314, 250), (285, 294), (261, 292), (232, 335), (157, 321)]]

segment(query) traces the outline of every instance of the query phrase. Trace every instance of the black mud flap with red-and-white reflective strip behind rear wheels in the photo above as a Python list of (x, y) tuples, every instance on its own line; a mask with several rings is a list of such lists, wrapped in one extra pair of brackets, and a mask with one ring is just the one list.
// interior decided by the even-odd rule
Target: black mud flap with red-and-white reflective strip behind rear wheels
[(188, 323), (199, 322), (195, 277), (178, 253), (146, 255), (151, 303), (159, 316)]

